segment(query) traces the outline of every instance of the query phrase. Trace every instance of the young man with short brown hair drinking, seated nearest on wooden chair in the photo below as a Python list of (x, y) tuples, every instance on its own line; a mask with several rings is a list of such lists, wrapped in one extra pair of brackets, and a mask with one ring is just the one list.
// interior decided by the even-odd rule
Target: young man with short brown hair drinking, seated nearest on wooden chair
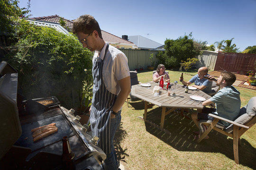
[[(209, 113), (216, 114), (222, 118), (235, 120), (238, 117), (241, 100), (240, 92), (232, 86), (236, 81), (236, 75), (231, 72), (221, 72), (219, 78), (217, 79), (217, 85), (220, 86), (220, 90), (210, 99), (202, 102), (203, 106), (210, 105), (211, 108), (204, 108), (202, 113), (192, 113), (191, 117), (195, 125), (199, 127), (199, 120), (213, 120), (212, 117), (208, 116)], [(214, 103), (216, 103), (216, 109)], [(225, 127), (230, 124), (225, 121), (219, 121)], [(203, 133), (202, 129), (200, 131), (194, 132), (195, 134)], [(206, 136), (205, 139), (209, 138)]]

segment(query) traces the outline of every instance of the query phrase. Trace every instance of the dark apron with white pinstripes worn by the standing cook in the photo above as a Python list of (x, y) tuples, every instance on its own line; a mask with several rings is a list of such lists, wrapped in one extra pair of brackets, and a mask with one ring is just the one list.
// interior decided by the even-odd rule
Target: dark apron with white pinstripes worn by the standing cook
[[(107, 44), (104, 59), (109, 49)], [(102, 70), (103, 60), (99, 59), (93, 62), (93, 96), (91, 102), (91, 131), (92, 136), (98, 136), (100, 139), (98, 145), (109, 154), (110, 151), (110, 111), (116, 101), (117, 95), (110, 93), (103, 83)]]

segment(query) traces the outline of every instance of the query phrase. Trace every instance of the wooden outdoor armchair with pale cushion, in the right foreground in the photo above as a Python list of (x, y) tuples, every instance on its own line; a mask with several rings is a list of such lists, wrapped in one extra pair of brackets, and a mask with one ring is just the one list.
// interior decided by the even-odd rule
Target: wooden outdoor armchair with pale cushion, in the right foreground
[[(240, 136), (242, 136), (250, 127), (252, 127), (256, 123), (256, 97), (252, 97), (246, 106), (240, 109), (240, 113), (238, 118), (235, 121), (231, 121), (228, 119), (221, 118), (214, 114), (209, 114), (209, 116), (213, 117), (212, 121), (200, 120), (199, 123), (203, 123), (208, 126), (207, 130), (200, 136), (197, 142), (201, 142), (205, 136), (209, 134), (209, 132), (213, 129), (222, 133), (226, 136), (233, 138), (233, 151), (235, 162), (239, 164), (238, 161), (238, 144), (240, 143)], [(224, 120), (226, 122), (231, 123), (229, 127), (224, 127), (223, 125), (218, 123), (219, 120)], [(203, 122), (205, 121), (205, 122)], [(218, 124), (217, 124), (218, 123)]]

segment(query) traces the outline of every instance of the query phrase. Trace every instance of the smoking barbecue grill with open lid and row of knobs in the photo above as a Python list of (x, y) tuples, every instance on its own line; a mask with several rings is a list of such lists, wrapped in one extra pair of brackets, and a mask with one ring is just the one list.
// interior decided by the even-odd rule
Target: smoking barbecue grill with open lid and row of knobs
[[(17, 101), (18, 73), (0, 63), (0, 169), (62, 169), (62, 138), (68, 136), (77, 170), (102, 170), (106, 154), (73, 109), (56, 97)], [(57, 133), (33, 142), (31, 129), (55, 123)]]

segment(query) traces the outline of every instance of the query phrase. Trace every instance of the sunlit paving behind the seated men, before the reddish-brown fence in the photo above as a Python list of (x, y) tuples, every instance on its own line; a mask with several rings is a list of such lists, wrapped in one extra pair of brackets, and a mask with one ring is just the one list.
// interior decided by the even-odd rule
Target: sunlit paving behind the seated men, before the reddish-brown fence
[[(211, 71), (208, 74), (210, 74), (211, 76), (219, 77), (220, 71)], [(256, 86), (248, 85), (246, 83), (248, 76), (240, 75), (240, 74), (236, 74), (236, 73), (235, 73), (235, 75), (237, 76), (237, 80), (233, 84), (234, 86), (256, 90)]]

